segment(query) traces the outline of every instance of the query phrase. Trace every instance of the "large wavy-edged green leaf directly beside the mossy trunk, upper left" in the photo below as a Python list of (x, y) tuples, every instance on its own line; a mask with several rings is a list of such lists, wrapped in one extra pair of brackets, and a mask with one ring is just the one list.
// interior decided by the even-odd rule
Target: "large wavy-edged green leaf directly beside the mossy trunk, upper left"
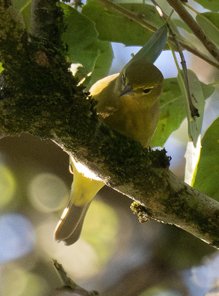
[(99, 54), (98, 33), (94, 22), (76, 9), (59, 2), (67, 26), (63, 41), (68, 44), (68, 56), (73, 63), (80, 63), (85, 73), (93, 71)]

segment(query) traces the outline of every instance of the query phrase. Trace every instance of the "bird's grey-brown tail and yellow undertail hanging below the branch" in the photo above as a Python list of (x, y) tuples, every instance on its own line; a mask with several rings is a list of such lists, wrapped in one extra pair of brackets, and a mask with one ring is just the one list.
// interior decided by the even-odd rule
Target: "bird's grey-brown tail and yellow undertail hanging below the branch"
[(70, 157), (70, 172), (74, 174), (70, 197), (54, 232), (55, 241), (63, 241), (66, 245), (79, 239), (89, 205), (104, 186), (100, 178), (76, 163), (73, 157)]

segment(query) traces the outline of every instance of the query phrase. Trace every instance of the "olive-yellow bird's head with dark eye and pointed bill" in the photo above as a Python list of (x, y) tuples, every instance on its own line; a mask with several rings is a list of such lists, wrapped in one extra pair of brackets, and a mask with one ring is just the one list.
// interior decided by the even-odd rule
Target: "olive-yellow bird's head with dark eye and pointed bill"
[(151, 63), (130, 63), (120, 73), (121, 99), (133, 99), (139, 104), (152, 105), (163, 91), (164, 77)]

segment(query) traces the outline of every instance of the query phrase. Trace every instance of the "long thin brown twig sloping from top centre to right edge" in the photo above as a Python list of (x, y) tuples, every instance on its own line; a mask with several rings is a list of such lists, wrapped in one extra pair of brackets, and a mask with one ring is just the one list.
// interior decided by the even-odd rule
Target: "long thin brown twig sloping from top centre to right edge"
[[(148, 22), (146, 22), (146, 20), (143, 19), (142, 15), (140, 16), (138, 14), (135, 14), (133, 12), (130, 12), (129, 10), (127, 10), (125, 8), (122, 8), (119, 5), (117, 5), (115, 3), (112, 3), (109, 0), (99, 0), (99, 1), (105, 7), (114, 9), (115, 11), (121, 13), (122, 15), (124, 15), (125, 17), (127, 17), (128, 19), (134, 20), (135, 22), (137, 22), (140, 25), (142, 25), (144, 28), (147, 28), (152, 33), (156, 32), (157, 28), (154, 27), (154, 26), (152, 26)], [(174, 42), (174, 40), (173, 40), (173, 38), (171, 36), (169, 37), (169, 39)], [(219, 65), (217, 63), (215, 63), (214, 61), (212, 61), (211, 59), (209, 59), (205, 54), (202, 54), (197, 49), (192, 48), (191, 46), (189, 46), (188, 44), (184, 43), (183, 41), (179, 41), (179, 44), (182, 46), (183, 49), (191, 52), (192, 54), (196, 55), (197, 57), (200, 57), (201, 59), (203, 59), (204, 61), (206, 61), (210, 65), (212, 65), (212, 66), (214, 66), (214, 67), (216, 67), (216, 68), (219, 69)]]

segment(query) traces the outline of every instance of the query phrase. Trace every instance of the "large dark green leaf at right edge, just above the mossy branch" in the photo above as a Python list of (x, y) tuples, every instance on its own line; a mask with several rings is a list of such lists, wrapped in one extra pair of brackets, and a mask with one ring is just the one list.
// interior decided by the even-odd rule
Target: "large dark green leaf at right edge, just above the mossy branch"
[(193, 187), (219, 201), (219, 118), (205, 132)]

